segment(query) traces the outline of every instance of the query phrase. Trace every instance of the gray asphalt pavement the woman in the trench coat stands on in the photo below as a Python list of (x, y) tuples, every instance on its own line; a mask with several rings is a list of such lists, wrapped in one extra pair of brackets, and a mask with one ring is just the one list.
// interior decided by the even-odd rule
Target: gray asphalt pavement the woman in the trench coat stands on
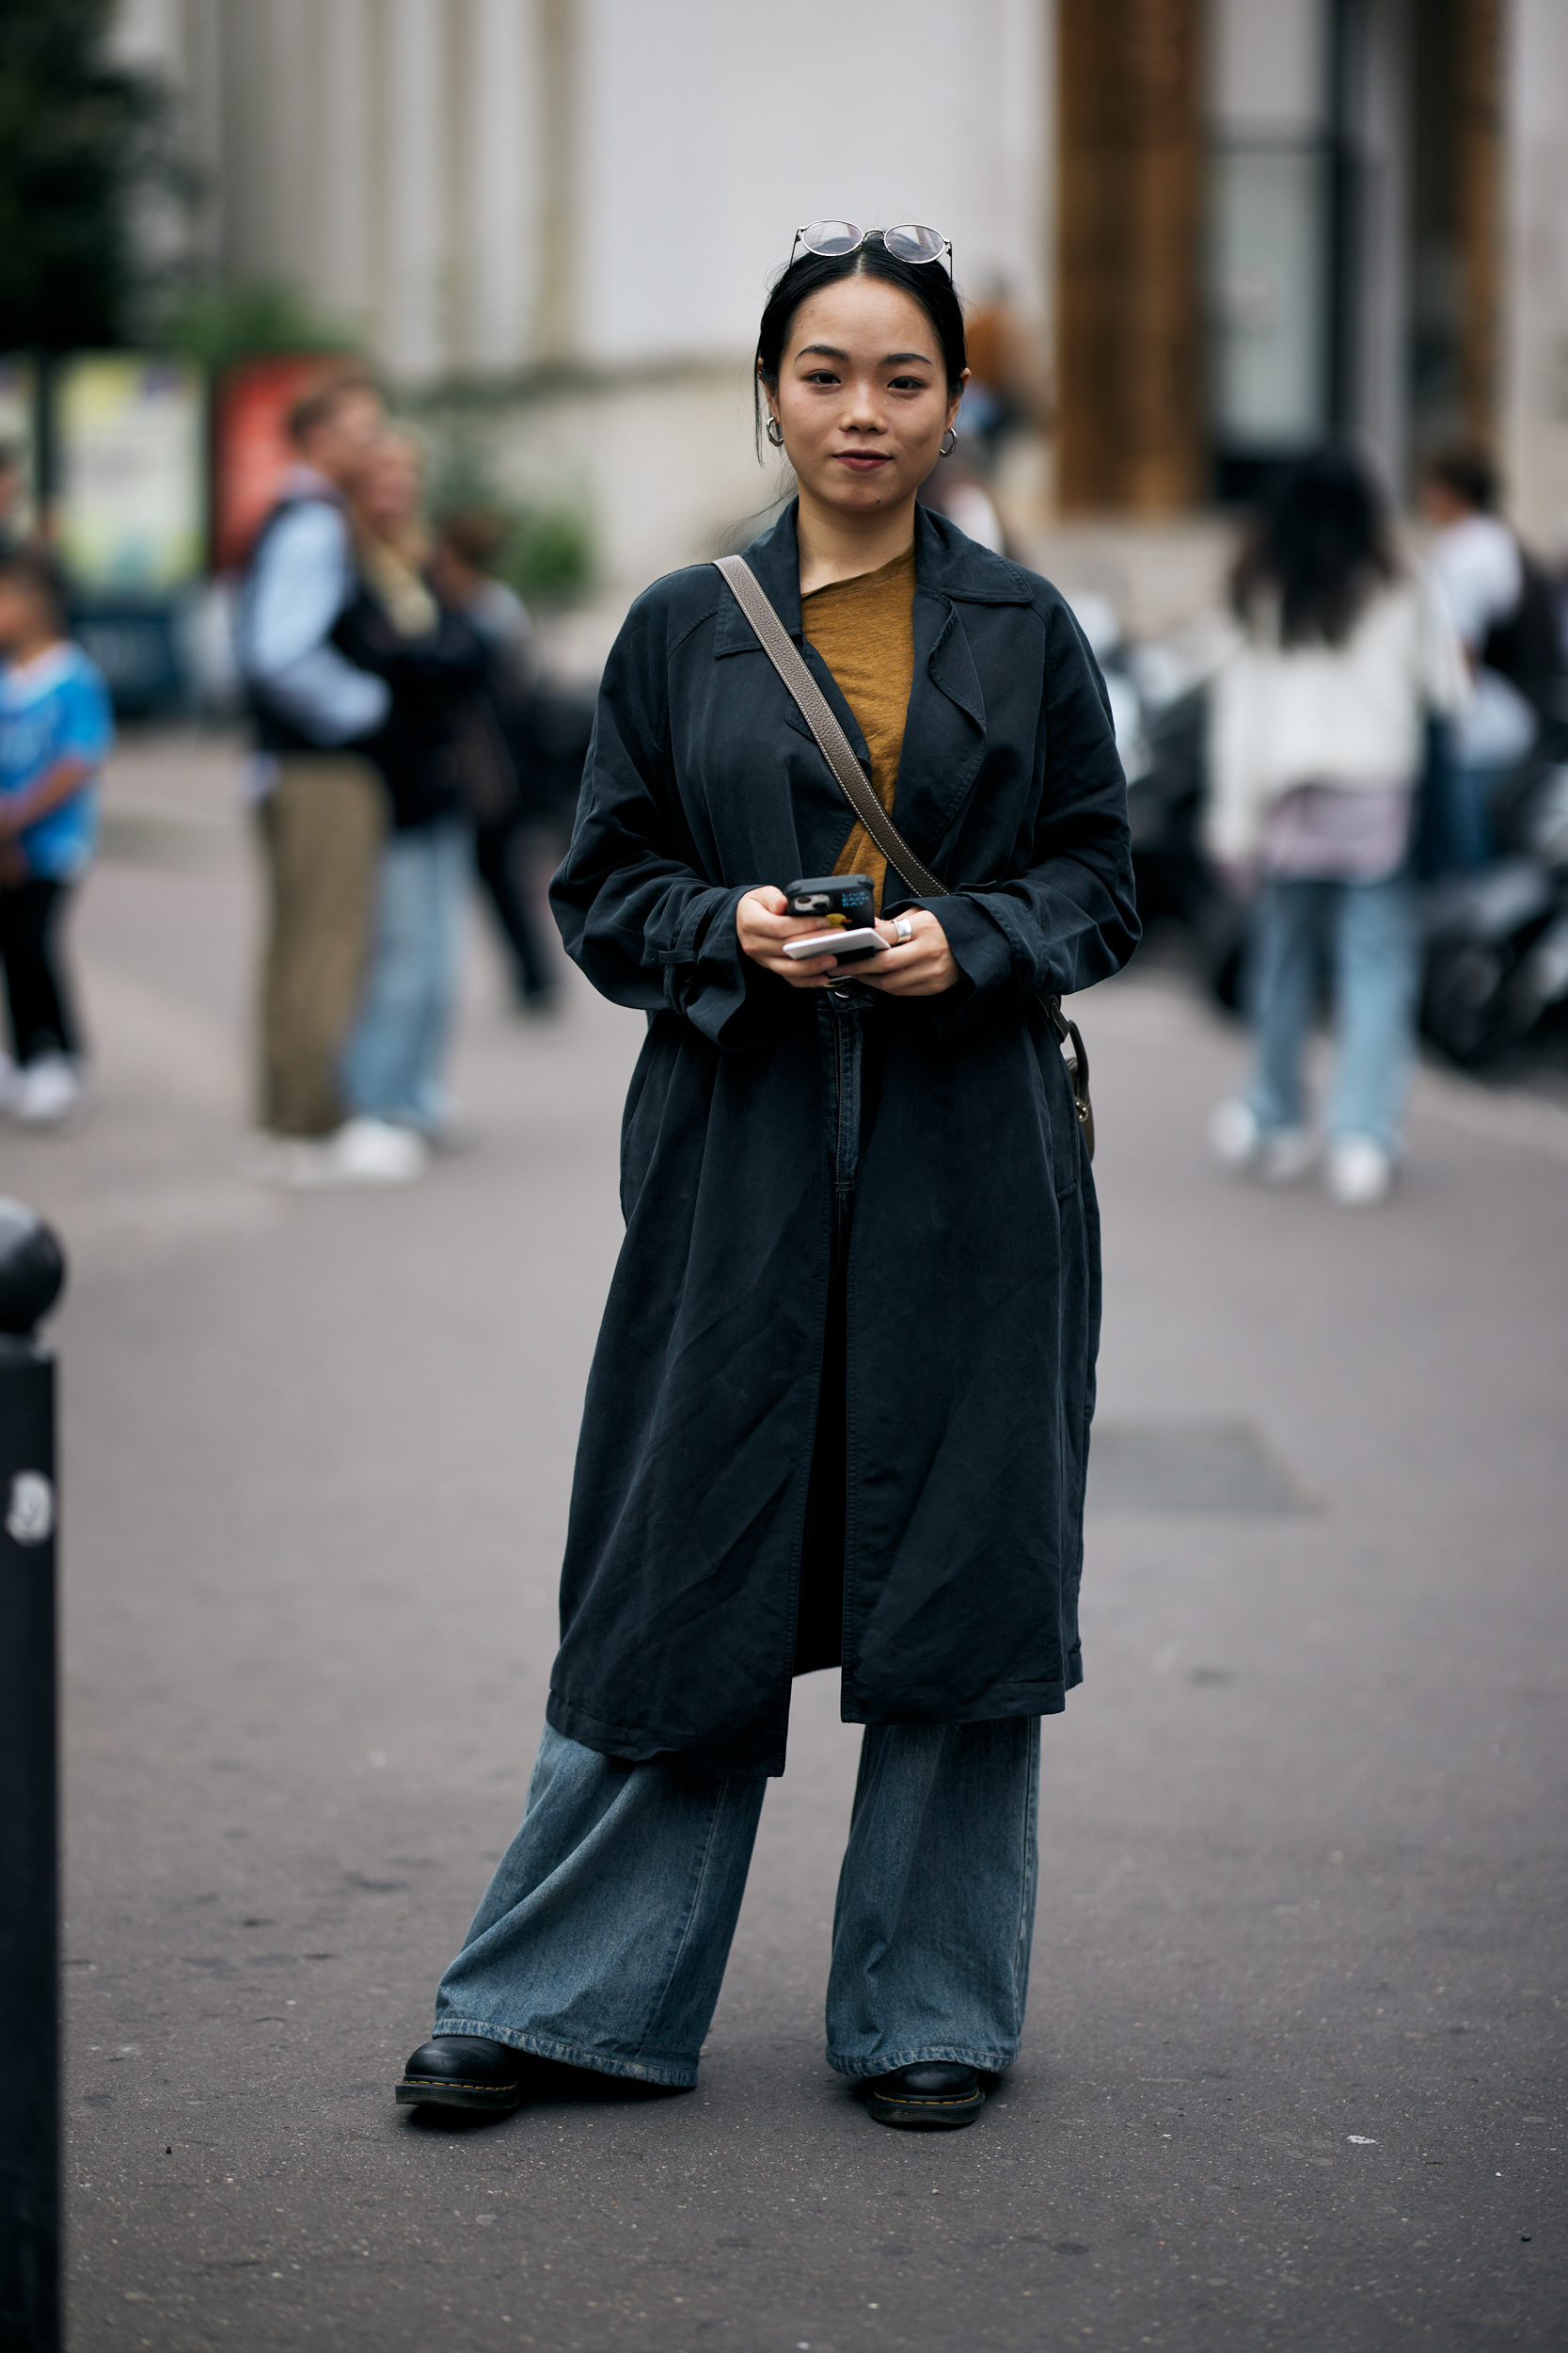
[(78, 1266), (73, 2353), (1561, 2346), (1568, 1118), (1422, 1078), (1347, 1217), (1211, 1169), (1239, 1047), (1178, 981), (1088, 998), (1105, 1445), (1020, 2066), (936, 2139), (823, 2066), (816, 1675), (701, 2087), (442, 2129), (390, 2082), (522, 1809), (639, 1024), (520, 1026), (477, 941), (473, 1148), (254, 1191), (223, 748), (113, 807), (94, 1111), (0, 1136)]

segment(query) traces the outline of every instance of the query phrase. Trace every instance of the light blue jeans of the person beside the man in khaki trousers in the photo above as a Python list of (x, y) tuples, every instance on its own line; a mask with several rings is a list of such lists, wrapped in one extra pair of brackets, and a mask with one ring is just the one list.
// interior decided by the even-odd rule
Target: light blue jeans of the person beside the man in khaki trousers
[(343, 1047), (343, 1096), (360, 1118), (442, 1125), (470, 859), (454, 816), (386, 840), (364, 1002)]

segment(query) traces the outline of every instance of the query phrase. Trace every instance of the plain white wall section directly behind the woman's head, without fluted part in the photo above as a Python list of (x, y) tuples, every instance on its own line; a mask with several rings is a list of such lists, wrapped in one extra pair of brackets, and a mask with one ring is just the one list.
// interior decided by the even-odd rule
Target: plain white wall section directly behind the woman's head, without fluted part
[(802, 221), (929, 221), (1044, 308), (1046, 59), (1030, 0), (839, 0), (816, 40), (733, 0), (583, 0), (581, 348), (745, 351)]

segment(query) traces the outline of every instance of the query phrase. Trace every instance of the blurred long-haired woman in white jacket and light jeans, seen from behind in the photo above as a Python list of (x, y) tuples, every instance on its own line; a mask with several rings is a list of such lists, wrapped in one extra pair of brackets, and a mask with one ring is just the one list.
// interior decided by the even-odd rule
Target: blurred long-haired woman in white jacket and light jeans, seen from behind
[(1291, 471), (1232, 600), (1244, 640), (1213, 689), (1206, 842), (1237, 889), (1258, 892), (1258, 1059), (1211, 1139), (1272, 1184), (1314, 1165), (1302, 1056), (1328, 955), (1328, 1191), (1368, 1205), (1394, 1181), (1415, 1042), (1408, 847), (1425, 720), (1462, 708), (1465, 661), (1446, 609), (1394, 551), (1371, 468), (1345, 447)]

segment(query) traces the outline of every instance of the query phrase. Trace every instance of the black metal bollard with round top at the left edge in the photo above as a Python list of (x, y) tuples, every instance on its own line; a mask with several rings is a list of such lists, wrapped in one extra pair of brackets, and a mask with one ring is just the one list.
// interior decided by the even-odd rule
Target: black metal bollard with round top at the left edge
[(59, 2353), (54, 1358), (59, 1242), (0, 1200), (0, 2353)]

